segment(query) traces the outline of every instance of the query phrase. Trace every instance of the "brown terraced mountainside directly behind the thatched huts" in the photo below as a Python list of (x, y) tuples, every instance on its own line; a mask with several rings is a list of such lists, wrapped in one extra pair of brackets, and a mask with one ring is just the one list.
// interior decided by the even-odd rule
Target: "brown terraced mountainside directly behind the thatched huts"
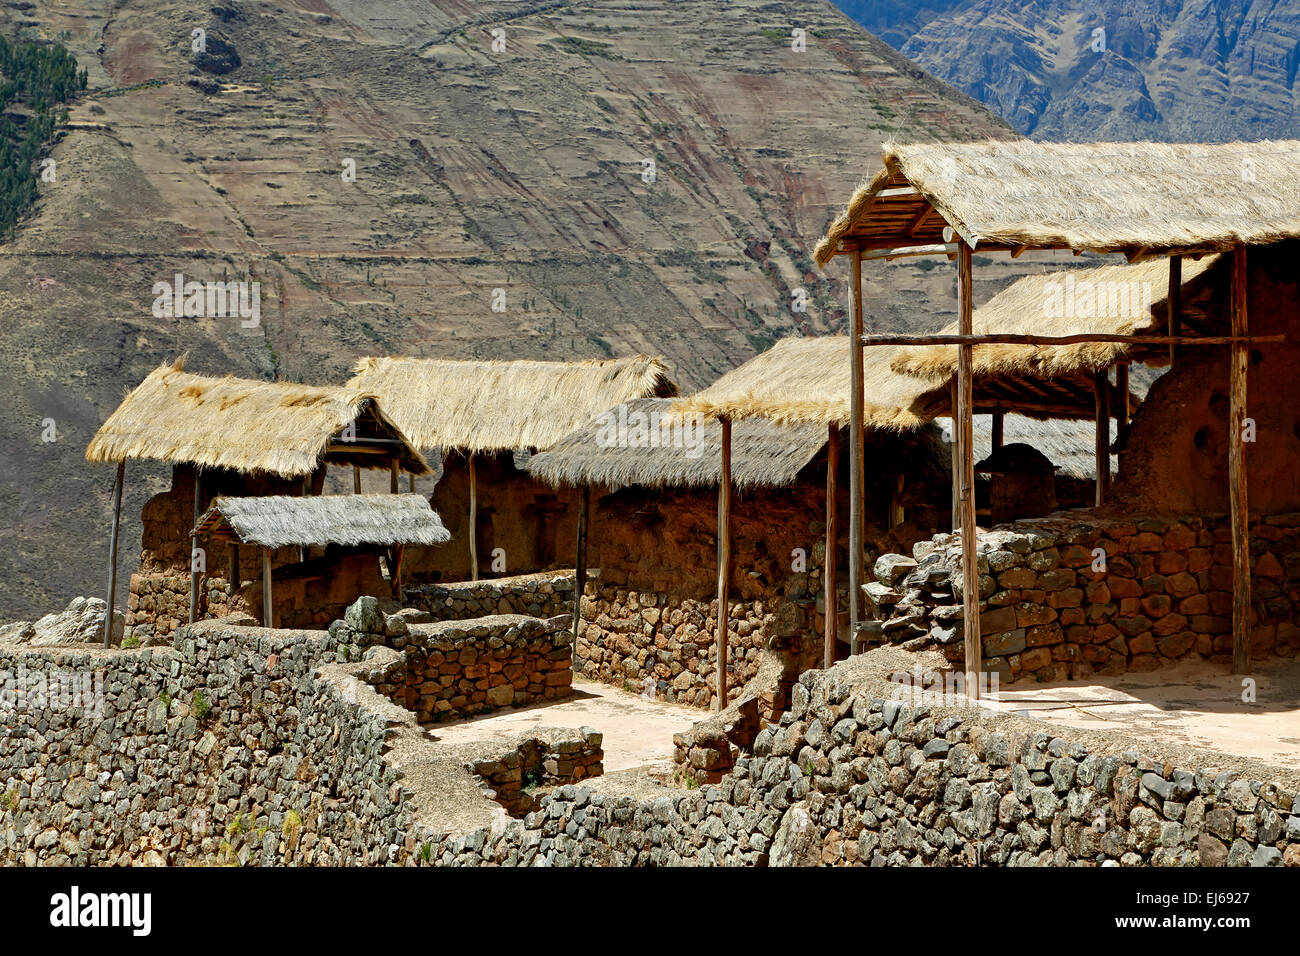
[[(88, 68), (0, 245), (0, 619), (103, 593), (83, 450), (161, 362), (653, 351), (699, 386), (842, 329), (810, 251), (884, 139), (1013, 135), (820, 0), (10, 0), (0, 31)], [(872, 271), (871, 323), (945, 321), (933, 267)], [(155, 308), (177, 274), (260, 282), (257, 321)], [(127, 467), (126, 564), (164, 479)]]

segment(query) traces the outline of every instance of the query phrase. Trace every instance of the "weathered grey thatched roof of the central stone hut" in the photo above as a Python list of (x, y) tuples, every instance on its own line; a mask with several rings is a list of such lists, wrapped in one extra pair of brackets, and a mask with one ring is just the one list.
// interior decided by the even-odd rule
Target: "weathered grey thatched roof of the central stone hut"
[[(672, 399), (642, 398), (612, 408), (533, 455), (528, 471), (555, 486), (716, 485), (722, 477), (722, 425), (676, 414), (672, 405)], [(737, 421), (732, 427), (732, 481), (738, 488), (793, 484), (826, 441), (824, 425), (781, 425), (757, 418)]]

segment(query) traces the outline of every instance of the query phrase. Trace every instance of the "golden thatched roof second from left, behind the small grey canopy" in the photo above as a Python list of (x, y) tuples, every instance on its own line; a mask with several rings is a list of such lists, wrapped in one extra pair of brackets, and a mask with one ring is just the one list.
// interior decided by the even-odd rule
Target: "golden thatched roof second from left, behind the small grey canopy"
[(421, 449), (545, 449), (620, 402), (677, 394), (660, 358), (452, 362), (369, 358), (348, 388), (377, 394)]

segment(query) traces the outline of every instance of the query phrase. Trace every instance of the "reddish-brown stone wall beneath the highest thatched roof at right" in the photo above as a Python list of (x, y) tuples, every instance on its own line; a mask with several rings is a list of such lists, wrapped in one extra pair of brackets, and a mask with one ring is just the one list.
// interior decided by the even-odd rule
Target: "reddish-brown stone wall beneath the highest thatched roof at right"
[[(980, 536), (980, 635), (1000, 680), (1087, 679), (1232, 653), (1231, 528), (1222, 518), (1062, 515)], [(1097, 562), (1097, 550), (1105, 567)], [(884, 637), (928, 636), (962, 657), (961, 542), (876, 562)], [(1300, 515), (1251, 524), (1252, 654), (1300, 650)], [(956, 587), (954, 587), (956, 585)]]

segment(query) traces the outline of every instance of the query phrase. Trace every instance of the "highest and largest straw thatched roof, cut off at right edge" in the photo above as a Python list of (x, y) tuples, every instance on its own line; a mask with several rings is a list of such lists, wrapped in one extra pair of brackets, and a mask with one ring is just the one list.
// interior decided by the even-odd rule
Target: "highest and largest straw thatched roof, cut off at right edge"
[(1300, 237), (1300, 142), (887, 143), (816, 247), (944, 242), (1126, 252)]

